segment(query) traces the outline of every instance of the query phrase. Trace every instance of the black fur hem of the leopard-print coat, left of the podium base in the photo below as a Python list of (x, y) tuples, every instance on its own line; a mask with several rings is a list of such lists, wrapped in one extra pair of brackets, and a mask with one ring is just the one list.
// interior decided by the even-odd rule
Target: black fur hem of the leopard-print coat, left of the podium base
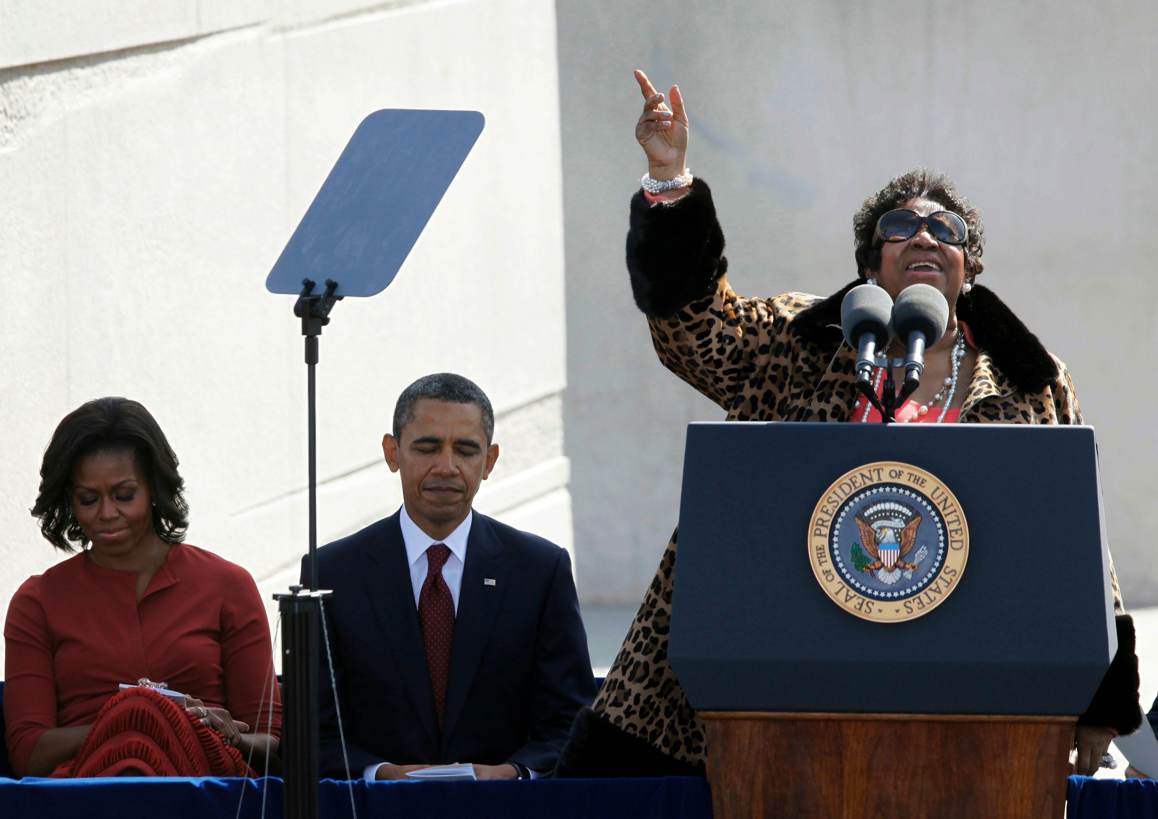
[(623, 776), (701, 776), (704, 765), (668, 756), (651, 743), (632, 737), (589, 708), (576, 716), (571, 737), (559, 754), (552, 776), (558, 778), (617, 778)]

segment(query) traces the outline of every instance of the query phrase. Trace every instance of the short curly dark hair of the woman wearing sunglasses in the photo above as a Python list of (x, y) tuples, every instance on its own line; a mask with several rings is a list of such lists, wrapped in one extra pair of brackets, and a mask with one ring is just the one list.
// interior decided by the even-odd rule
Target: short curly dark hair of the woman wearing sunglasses
[(985, 269), (981, 254), (985, 247), (985, 226), (981, 222), (981, 211), (957, 192), (957, 185), (948, 174), (929, 168), (914, 168), (901, 174), (887, 185), (870, 196), (852, 217), (856, 235), (857, 273), (864, 278), (870, 270), (880, 270), (880, 244), (873, 243), (877, 221), (892, 210), (904, 207), (910, 199), (936, 202), (951, 213), (965, 220), (969, 237), (965, 242), (965, 280), (973, 283)]

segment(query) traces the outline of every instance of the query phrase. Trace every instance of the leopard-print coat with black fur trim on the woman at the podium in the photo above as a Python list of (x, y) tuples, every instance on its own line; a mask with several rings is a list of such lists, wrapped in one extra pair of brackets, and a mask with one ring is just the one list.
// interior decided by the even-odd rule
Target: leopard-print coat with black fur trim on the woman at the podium
[[(628, 269), (636, 302), (668, 370), (718, 403), (728, 421), (844, 422), (853, 412), (856, 351), (840, 305), (859, 281), (823, 299), (736, 295), (711, 192), (697, 180), (674, 204), (632, 199)], [(960, 423), (1080, 424), (1073, 383), (1013, 313), (975, 286), (958, 315), (977, 342)], [(608, 672), (593, 711), (686, 763), (706, 761), (704, 729), (667, 661), (677, 533)], [(1115, 610), (1122, 610), (1111, 566)]]

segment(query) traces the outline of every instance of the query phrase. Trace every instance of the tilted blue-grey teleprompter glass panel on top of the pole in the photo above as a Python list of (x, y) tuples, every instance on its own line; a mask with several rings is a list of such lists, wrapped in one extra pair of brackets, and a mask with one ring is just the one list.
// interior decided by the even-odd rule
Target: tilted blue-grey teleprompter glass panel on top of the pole
[(362, 119), (265, 279), (301, 293), (374, 295), (410, 249), (483, 131), (478, 111), (386, 109)]

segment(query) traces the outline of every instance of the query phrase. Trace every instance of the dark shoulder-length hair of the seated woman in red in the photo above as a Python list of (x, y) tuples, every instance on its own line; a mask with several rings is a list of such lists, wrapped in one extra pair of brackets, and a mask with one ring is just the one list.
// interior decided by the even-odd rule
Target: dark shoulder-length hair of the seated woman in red
[(177, 455), (145, 407), (129, 398), (94, 398), (66, 415), (57, 425), (41, 463), (41, 491), (32, 517), (41, 533), (63, 551), (88, 544), (72, 507), (73, 467), (98, 452), (132, 451), (145, 473), (153, 503), (153, 531), (168, 543), (178, 543), (189, 528), (185, 482), (177, 473)]

